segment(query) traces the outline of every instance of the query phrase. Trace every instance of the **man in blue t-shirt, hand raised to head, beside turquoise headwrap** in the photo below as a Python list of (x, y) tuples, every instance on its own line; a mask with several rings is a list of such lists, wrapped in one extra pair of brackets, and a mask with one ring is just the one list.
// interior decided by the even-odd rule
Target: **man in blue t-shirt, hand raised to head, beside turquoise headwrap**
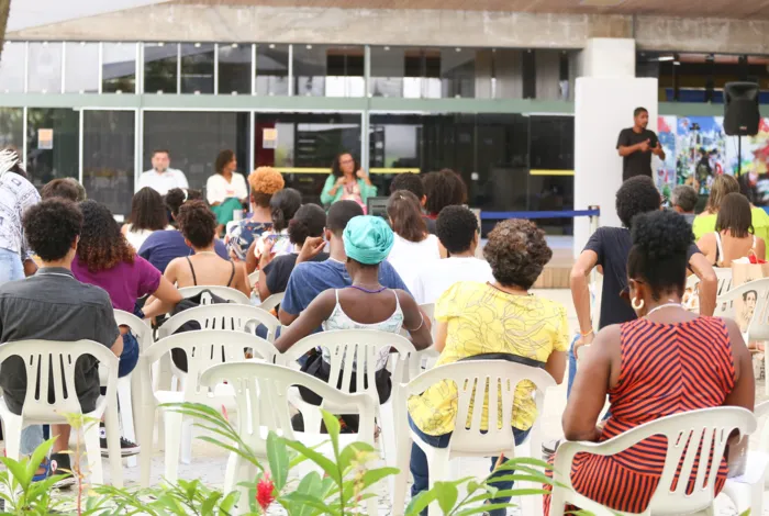
[[(347, 255), (342, 234), (347, 223), (364, 211), (355, 201), (337, 201), (328, 209), (326, 216), (326, 239), (331, 256), (325, 261), (309, 261), (323, 250), (323, 243), (308, 238), (297, 257), (297, 266), (291, 272), (286, 296), (280, 304), (280, 322), (289, 325), (304, 311), (312, 300), (328, 289), (344, 289), (353, 284), (345, 263)], [(388, 289), (405, 290), (405, 284), (389, 262), (379, 265), (379, 283)]]

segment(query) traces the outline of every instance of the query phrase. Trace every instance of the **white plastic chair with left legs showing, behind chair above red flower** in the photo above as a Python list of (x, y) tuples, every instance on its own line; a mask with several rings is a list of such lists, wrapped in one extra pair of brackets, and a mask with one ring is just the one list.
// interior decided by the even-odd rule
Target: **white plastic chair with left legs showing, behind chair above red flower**
[[(171, 349), (180, 348), (187, 354), (187, 378), (181, 391), (154, 391), (151, 385), (152, 366)], [(155, 424), (155, 411), (163, 403), (203, 403), (215, 410), (222, 406), (227, 411), (234, 411), (235, 400), (232, 389), (223, 385), (215, 392), (200, 389), (200, 374), (211, 366), (224, 362), (242, 362), (245, 360), (243, 350), (250, 348), (256, 357), (267, 361), (274, 361), (276, 349), (271, 343), (242, 332), (226, 329), (204, 329), (198, 332), (185, 332), (163, 338), (149, 346), (140, 359), (142, 384), (142, 420), (140, 438), (142, 442), (152, 442), (153, 427)], [(191, 455), (191, 420), (183, 418), (181, 414), (164, 411), (165, 419), (165, 451), (166, 473), (168, 482), (175, 482), (178, 478), (180, 445), (183, 449), (187, 463)], [(142, 447), (140, 452), (141, 482), (143, 486), (149, 484), (151, 447)]]

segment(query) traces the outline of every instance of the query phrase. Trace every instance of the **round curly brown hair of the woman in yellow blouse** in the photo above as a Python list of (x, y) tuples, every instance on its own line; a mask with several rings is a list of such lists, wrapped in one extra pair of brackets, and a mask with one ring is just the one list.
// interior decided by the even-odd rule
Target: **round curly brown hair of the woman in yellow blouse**
[(483, 256), (500, 284), (528, 290), (553, 258), (553, 250), (547, 246), (545, 232), (536, 224), (511, 218), (500, 222), (489, 233)]

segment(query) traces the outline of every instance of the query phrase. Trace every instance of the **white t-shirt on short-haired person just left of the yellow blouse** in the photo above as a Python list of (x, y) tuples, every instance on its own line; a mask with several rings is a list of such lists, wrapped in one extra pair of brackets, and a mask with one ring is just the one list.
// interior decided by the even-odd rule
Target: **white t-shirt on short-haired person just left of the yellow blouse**
[(416, 276), (411, 294), (419, 304), (435, 303), (454, 283), (494, 281), (488, 261), (473, 257), (446, 258), (430, 263)]

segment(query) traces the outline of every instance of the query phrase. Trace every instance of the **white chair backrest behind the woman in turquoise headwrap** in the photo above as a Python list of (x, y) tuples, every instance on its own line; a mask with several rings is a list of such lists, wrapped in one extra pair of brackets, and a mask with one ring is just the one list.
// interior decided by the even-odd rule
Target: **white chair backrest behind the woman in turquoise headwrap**
[[(402, 335), (375, 329), (336, 329), (309, 335), (299, 340), (283, 354), (283, 363), (291, 367), (308, 351), (319, 347), (327, 348), (331, 355), (330, 385), (339, 384), (339, 377), (342, 377), (342, 391), (350, 392), (353, 369), (355, 369), (356, 392), (374, 394), (377, 390), (376, 366), (382, 350), (397, 351), (393, 358), (395, 362), (392, 378), (401, 378), (405, 371), (409, 355), (415, 352), (414, 345)], [(343, 367), (346, 364), (355, 364), (355, 368)]]

